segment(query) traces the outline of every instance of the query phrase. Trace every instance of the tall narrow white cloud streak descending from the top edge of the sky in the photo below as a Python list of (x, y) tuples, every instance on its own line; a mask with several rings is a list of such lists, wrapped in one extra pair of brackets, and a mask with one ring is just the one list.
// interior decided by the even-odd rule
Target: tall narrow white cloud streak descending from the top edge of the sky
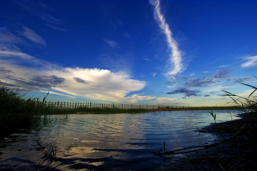
[(169, 28), (169, 25), (166, 23), (163, 14), (161, 14), (160, 1), (159, 0), (150, 0), (151, 5), (155, 7), (154, 14), (155, 20), (159, 23), (159, 27), (164, 32), (168, 47), (171, 49), (170, 62), (173, 64), (173, 69), (166, 73), (167, 76), (173, 77), (177, 73), (180, 73), (183, 69), (181, 53), (178, 49), (177, 42), (172, 37), (172, 32)]

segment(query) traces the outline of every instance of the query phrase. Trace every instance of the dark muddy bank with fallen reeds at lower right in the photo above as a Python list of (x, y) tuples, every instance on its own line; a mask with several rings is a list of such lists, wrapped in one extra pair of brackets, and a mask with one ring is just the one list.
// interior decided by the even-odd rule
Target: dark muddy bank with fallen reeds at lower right
[[(256, 170), (257, 121), (250, 121), (242, 114), (239, 117), (242, 118), (218, 123), (219, 129), (222, 130), (221, 133), (226, 139), (224, 142), (187, 153), (184, 158), (188, 160), (178, 158), (167, 160), (157, 170)], [(223, 140), (215, 124), (210, 124), (201, 130), (213, 134), (216, 142)]]

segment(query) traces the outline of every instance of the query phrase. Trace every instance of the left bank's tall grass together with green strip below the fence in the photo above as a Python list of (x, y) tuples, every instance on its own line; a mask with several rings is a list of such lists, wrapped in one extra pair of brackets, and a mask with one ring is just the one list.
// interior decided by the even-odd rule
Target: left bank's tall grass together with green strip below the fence
[(42, 116), (46, 119), (49, 115), (67, 114), (110, 114), (110, 113), (145, 113), (152, 112), (146, 109), (118, 109), (118, 108), (87, 108), (78, 107), (76, 109), (55, 108), (54, 104), (46, 103), (46, 97), (41, 101), (39, 98), (25, 97), (19, 88), (10, 88), (0, 81), (0, 129), (11, 129), (28, 125), (31, 121), (36, 121)]

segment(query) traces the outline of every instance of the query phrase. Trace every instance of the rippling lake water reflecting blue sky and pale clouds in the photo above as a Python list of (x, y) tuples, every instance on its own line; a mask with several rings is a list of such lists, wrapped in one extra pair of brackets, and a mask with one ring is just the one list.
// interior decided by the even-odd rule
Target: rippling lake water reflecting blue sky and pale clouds
[[(231, 120), (226, 110), (213, 112), (217, 122)], [(213, 143), (212, 134), (194, 132), (213, 122), (209, 111), (52, 115), (0, 142), (0, 170), (155, 170), (164, 162), (150, 151), (164, 141), (167, 151)], [(53, 162), (38, 166), (44, 154), (35, 140), (47, 153), (57, 146)]]

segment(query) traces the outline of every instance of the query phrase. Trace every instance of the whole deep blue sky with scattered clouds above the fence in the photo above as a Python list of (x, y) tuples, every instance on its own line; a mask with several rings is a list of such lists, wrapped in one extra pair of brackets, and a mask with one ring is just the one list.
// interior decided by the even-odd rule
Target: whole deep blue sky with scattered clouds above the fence
[[(50, 102), (224, 106), (257, 79), (255, 0), (1, 0), (0, 80)], [(255, 95), (255, 93), (253, 94)]]

